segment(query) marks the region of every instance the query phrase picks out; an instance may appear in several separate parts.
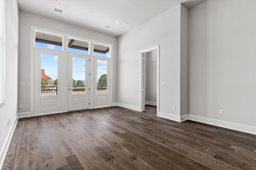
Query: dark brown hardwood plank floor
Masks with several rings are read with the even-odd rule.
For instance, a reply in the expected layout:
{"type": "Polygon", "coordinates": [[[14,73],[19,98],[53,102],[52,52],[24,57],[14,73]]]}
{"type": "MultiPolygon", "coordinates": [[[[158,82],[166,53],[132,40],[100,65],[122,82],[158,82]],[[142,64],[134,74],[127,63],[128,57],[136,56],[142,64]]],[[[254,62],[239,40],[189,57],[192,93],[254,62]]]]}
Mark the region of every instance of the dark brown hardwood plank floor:
{"type": "Polygon", "coordinates": [[[107,107],[18,120],[2,170],[256,170],[256,135],[107,107]]]}

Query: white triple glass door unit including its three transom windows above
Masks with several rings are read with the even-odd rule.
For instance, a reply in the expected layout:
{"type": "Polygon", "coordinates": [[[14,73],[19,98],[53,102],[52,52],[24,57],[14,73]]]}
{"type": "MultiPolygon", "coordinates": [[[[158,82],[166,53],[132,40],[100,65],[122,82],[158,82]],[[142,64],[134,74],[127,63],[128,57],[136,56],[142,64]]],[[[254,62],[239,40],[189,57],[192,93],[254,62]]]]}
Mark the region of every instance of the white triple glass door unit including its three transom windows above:
{"type": "Polygon", "coordinates": [[[32,39],[34,115],[112,105],[112,45],[37,29],[32,39]]]}

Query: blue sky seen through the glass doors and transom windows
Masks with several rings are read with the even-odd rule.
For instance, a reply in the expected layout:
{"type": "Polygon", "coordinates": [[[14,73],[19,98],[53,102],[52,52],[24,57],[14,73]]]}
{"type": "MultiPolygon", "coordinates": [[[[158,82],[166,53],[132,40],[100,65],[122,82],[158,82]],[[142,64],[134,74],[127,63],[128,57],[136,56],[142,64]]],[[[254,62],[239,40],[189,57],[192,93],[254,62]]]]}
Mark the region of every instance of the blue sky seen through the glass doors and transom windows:
{"type": "MultiPolygon", "coordinates": [[[[36,47],[43,47],[47,49],[62,50],[61,46],[50,45],[45,43],[36,42],[36,47]]],[[[79,49],[71,49],[70,52],[88,54],[88,51],[79,49]]],[[[108,57],[108,53],[94,53],[96,56],[108,57]]],[[[85,80],[85,59],[73,57],[73,79],[74,80],[85,80]]],[[[41,69],[44,69],[46,76],[49,76],[53,80],[58,78],[58,56],[53,54],[41,53],[41,69]]],[[[102,74],[107,74],[107,63],[106,61],[97,61],[97,80],[102,74]]],[[[92,74],[91,74],[92,75],[92,74]]]]}

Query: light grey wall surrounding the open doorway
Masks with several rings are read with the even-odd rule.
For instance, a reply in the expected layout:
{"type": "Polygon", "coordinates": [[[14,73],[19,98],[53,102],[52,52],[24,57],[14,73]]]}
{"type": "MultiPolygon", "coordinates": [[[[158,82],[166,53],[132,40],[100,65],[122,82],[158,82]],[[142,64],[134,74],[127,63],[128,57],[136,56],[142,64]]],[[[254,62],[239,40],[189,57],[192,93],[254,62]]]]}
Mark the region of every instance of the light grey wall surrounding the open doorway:
{"type": "Polygon", "coordinates": [[[180,13],[181,4],[118,37],[120,106],[139,110],[139,52],[160,45],[159,112],[180,117],[180,13]]]}

